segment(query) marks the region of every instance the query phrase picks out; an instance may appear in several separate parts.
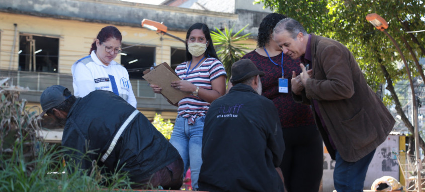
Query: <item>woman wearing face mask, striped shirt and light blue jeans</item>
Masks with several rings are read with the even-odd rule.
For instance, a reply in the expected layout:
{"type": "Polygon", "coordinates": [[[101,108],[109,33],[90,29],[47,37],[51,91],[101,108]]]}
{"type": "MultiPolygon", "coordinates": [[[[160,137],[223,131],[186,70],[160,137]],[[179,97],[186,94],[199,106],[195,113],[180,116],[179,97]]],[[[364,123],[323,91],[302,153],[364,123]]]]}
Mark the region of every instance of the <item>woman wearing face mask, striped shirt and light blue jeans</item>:
{"type": "MultiPolygon", "coordinates": [[[[186,61],[176,67],[180,81],[171,86],[192,93],[178,103],[178,116],[169,142],[182,156],[185,171],[190,166],[193,189],[198,189],[198,176],[201,169],[202,135],[205,114],[226,89],[226,72],[217,59],[210,30],[207,25],[196,23],[186,34],[186,61]]],[[[153,92],[160,93],[161,88],[150,85],[153,92]]],[[[182,178],[183,179],[183,178],[182,178]]]]}

